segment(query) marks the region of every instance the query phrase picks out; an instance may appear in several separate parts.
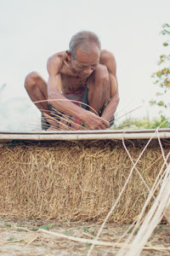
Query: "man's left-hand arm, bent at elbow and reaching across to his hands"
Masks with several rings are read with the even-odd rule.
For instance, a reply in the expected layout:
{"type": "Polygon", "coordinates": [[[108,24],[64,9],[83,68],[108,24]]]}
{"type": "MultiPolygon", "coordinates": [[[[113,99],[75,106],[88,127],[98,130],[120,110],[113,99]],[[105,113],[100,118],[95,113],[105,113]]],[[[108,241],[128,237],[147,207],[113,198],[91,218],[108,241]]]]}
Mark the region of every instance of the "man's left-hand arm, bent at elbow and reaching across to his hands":
{"type": "Polygon", "coordinates": [[[82,119],[90,130],[108,128],[109,124],[105,119],[78,107],[61,94],[61,75],[59,72],[62,65],[62,60],[56,55],[48,60],[48,103],[61,112],[82,119]]]}

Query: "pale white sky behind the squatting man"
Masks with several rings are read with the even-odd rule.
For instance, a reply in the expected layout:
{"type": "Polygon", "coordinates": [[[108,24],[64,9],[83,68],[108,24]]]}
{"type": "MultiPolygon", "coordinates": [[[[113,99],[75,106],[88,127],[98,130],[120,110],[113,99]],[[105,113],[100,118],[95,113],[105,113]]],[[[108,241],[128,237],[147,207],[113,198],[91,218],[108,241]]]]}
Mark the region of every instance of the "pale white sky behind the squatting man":
{"type": "MultiPolygon", "coordinates": [[[[159,33],[170,22],[169,10],[169,0],[0,0],[0,85],[7,84],[5,99],[27,96],[26,74],[35,70],[47,79],[48,56],[68,49],[74,33],[90,30],[116,56],[118,115],[122,108],[126,113],[149,102],[156,95],[150,76],[165,50],[159,33]]],[[[148,112],[153,114],[153,109],[148,112]]],[[[146,115],[145,108],[137,114],[146,115]]]]}

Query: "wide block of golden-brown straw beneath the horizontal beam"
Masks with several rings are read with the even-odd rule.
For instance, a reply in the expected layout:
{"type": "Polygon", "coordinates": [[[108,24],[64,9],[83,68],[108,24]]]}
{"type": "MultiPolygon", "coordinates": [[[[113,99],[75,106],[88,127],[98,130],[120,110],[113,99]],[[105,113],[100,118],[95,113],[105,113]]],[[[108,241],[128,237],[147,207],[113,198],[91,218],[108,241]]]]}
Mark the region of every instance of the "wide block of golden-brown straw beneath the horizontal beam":
{"type": "MultiPolygon", "coordinates": [[[[126,141],[134,162],[146,143],[126,141]]],[[[162,141],[162,145],[167,155],[169,141],[162,141]]],[[[161,149],[154,140],[136,166],[149,188],[162,164],[161,149]]],[[[102,222],[132,167],[121,141],[9,144],[0,148],[0,213],[17,218],[102,222]]],[[[148,193],[134,170],[109,221],[132,222],[148,193]]]]}

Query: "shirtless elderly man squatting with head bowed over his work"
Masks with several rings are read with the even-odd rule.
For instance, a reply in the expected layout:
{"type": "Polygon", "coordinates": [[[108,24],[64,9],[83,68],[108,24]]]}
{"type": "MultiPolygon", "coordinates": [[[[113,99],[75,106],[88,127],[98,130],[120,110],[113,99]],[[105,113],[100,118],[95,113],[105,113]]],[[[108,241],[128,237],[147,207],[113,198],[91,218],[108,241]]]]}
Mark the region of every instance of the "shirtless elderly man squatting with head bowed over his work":
{"type": "Polygon", "coordinates": [[[47,67],[48,83],[35,72],[25,82],[31,101],[43,116],[54,108],[81,119],[89,130],[110,127],[119,102],[116,61],[111,52],[100,48],[94,32],[75,34],[69,50],[49,57],[47,67]],[[91,108],[71,102],[69,95],[79,96],[91,108]]]}

